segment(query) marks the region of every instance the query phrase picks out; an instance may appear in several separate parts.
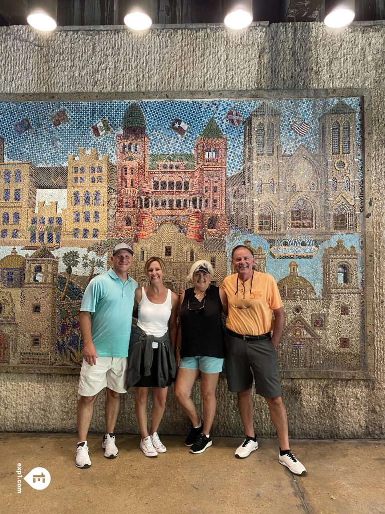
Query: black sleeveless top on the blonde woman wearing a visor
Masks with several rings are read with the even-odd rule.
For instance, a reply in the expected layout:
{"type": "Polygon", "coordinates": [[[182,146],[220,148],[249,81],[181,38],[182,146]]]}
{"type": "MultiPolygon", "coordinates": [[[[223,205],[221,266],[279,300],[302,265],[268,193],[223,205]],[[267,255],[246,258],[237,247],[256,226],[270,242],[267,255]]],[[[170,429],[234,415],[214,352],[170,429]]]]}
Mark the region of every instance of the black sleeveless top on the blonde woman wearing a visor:
{"type": "Polygon", "coordinates": [[[224,358],[222,302],[219,287],[210,285],[199,302],[194,287],[186,289],[180,310],[181,357],[224,358]]]}

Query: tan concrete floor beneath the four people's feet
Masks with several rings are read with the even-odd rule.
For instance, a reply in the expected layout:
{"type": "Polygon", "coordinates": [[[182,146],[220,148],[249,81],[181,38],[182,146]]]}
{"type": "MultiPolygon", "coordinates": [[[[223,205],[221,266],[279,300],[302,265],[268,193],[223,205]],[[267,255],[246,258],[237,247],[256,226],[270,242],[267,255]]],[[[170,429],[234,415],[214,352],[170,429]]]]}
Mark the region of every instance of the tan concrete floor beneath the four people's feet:
{"type": "Polygon", "coordinates": [[[235,438],[214,438],[200,455],[183,438],[163,436],[167,452],[148,458],[139,436],[118,435],[119,456],[104,458],[101,436],[90,435],[92,466],[75,467],[72,434],[0,434],[0,511],[3,514],[385,514],[384,440],[296,440],[292,450],[307,476],[278,463],[275,439],[238,460],[235,438]],[[34,467],[51,474],[42,491],[22,480],[34,467]]]}

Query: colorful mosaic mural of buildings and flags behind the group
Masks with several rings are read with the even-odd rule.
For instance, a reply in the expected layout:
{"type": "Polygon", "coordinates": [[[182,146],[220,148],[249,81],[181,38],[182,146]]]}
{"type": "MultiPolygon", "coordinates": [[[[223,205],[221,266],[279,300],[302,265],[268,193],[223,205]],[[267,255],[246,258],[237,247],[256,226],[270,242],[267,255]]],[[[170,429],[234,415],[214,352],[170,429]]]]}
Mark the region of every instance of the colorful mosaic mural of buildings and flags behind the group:
{"type": "Polygon", "coordinates": [[[281,369],[365,369],[360,98],[7,102],[0,135],[3,371],[81,364],[83,291],[121,240],[176,291],[248,245],[283,299],[281,369]]]}

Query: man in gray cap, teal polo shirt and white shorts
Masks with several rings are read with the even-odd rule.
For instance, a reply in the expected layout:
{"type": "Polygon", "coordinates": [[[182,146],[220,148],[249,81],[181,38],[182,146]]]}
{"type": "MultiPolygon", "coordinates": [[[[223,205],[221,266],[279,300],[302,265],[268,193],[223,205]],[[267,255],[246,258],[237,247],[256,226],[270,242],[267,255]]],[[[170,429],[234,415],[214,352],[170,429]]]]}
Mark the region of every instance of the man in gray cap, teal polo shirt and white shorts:
{"type": "Polygon", "coordinates": [[[89,468],[87,433],[98,393],[106,389],[106,433],[104,456],[118,455],[114,429],[120,409],[120,394],[126,393],[127,356],[131,336],[134,292],[138,282],[128,270],[132,248],[119,243],[112,252],[111,268],[93,278],[84,291],[79,323],[84,340],[78,400],[78,448],[76,466],[89,468]]]}

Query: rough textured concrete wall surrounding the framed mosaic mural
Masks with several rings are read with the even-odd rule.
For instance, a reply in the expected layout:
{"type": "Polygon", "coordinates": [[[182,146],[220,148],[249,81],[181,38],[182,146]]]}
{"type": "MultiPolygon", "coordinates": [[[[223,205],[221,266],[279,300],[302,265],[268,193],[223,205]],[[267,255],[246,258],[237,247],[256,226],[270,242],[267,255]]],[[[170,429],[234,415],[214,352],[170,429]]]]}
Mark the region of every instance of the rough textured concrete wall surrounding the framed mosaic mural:
{"type": "MultiPolygon", "coordinates": [[[[295,437],[385,436],[384,263],[385,251],[385,26],[352,26],[336,32],[321,24],[152,30],[59,30],[36,34],[28,27],[0,29],[0,100],[98,98],[269,98],[270,90],[365,89],[371,108],[365,172],[372,182],[374,232],[372,380],[284,379],[290,432],[295,437]],[[251,93],[259,90],[260,93],[251,93]],[[178,93],[179,91],[179,93],[178,93]],[[200,93],[201,91],[201,93],[200,93]],[[221,93],[218,93],[221,91],[221,93]],[[246,93],[246,91],[249,91],[246,93]],[[66,94],[66,95],[64,95],[66,94]],[[17,96],[16,96],[17,95],[17,96]],[[371,120],[370,120],[371,118],[371,120]]],[[[336,93],[337,94],[337,93],[336,93]]],[[[330,95],[329,95],[330,96],[330,95]]],[[[275,91],[274,97],[277,98],[275,91]]],[[[367,198],[369,201],[369,199],[367,198]]],[[[368,258],[371,257],[368,255],[368,258]]],[[[371,259],[370,259],[371,260],[371,259]]],[[[368,284],[369,289],[370,282],[368,284]]],[[[75,430],[76,376],[1,374],[2,430],[75,430]]],[[[213,432],[242,433],[235,395],[218,388],[213,432]]],[[[263,401],[256,399],[259,435],[274,435],[263,401]]],[[[162,433],[183,433],[185,417],[169,395],[162,433]]],[[[103,431],[99,399],[92,430],[103,431]]],[[[133,393],[123,398],[118,431],[136,432],[133,393]]]]}

